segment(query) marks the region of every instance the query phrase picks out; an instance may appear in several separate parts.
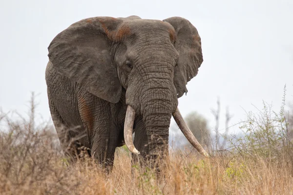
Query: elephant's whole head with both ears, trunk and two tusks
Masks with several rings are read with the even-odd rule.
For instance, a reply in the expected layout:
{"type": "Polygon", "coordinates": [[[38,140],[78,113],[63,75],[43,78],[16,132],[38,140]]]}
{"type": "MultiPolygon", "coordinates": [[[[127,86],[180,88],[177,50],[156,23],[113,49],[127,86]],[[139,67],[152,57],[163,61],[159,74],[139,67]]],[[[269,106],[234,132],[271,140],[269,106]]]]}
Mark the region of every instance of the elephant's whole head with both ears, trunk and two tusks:
{"type": "Polygon", "coordinates": [[[189,142],[208,156],[177,108],[203,62],[200,36],[188,20],[89,18],[58,34],[48,50],[55,69],[93,95],[117,103],[125,91],[124,137],[132,153],[139,154],[132,141],[135,115],[143,117],[150,156],[166,152],[173,115],[189,142]]]}

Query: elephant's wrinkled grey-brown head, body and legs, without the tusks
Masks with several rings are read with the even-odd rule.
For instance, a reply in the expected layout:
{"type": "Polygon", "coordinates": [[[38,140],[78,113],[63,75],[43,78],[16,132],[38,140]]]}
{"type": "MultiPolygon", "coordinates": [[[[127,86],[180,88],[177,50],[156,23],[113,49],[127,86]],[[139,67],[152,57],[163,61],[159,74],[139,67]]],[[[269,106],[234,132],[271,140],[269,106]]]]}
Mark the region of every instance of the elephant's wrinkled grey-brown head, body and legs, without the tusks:
{"type": "Polygon", "coordinates": [[[136,149],[151,158],[167,152],[177,98],[203,61],[200,37],[188,20],[85,19],[58,34],[48,51],[49,107],[64,151],[78,136],[71,146],[87,147],[112,165],[115,148],[124,144],[130,105],[136,149]]]}

